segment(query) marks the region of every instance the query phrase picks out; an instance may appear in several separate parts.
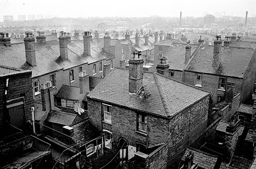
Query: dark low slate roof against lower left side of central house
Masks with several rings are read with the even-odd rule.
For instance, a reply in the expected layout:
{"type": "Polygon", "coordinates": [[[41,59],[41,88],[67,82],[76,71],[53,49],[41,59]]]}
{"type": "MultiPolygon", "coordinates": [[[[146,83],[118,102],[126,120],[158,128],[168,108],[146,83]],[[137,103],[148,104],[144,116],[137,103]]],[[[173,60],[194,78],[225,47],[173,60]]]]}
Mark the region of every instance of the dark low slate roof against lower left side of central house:
{"type": "Polygon", "coordinates": [[[93,125],[89,118],[71,127],[74,129],[74,133],[71,137],[82,142],[89,141],[100,136],[100,131],[93,125]]]}

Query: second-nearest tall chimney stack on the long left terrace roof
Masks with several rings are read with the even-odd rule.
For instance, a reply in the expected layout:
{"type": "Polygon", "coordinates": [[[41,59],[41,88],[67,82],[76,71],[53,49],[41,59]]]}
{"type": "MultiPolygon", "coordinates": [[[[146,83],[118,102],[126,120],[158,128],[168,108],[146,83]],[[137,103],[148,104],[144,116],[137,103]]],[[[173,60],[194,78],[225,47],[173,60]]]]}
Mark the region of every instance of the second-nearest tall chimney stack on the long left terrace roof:
{"type": "Polygon", "coordinates": [[[59,33],[59,53],[61,59],[68,59],[68,41],[67,32],[61,31],[59,33]]]}

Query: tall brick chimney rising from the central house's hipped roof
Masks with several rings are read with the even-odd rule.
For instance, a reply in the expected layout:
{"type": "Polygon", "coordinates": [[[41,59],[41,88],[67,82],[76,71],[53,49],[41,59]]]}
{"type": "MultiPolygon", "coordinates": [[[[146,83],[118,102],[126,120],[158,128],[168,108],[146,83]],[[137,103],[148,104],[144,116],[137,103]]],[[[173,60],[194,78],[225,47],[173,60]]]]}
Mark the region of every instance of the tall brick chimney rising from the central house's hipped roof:
{"type": "Polygon", "coordinates": [[[137,93],[143,86],[143,59],[135,50],[129,60],[129,93],[137,93]]]}

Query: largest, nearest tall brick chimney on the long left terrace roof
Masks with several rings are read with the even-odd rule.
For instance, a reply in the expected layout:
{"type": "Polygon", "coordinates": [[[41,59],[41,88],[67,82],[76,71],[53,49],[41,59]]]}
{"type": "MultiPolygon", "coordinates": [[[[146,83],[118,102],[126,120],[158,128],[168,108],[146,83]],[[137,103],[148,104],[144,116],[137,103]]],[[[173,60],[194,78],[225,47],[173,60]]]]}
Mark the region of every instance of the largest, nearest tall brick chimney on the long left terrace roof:
{"type": "Polygon", "coordinates": [[[31,66],[36,66],[35,39],[32,32],[25,32],[24,38],[26,62],[31,66]]]}

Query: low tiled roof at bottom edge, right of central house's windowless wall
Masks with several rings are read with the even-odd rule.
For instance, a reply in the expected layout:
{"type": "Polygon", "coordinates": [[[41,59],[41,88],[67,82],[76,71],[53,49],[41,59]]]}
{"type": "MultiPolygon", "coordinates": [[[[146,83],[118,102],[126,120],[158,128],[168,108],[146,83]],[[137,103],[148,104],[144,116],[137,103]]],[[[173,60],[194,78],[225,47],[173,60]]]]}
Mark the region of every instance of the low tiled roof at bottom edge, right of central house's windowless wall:
{"type": "Polygon", "coordinates": [[[187,148],[185,154],[182,157],[182,160],[185,160],[186,154],[189,152],[194,153],[194,163],[198,164],[199,167],[202,167],[204,169],[213,169],[216,165],[216,162],[218,160],[218,156],[205,153],[200,150],[196,150],[193,148],[187,148]]]}

